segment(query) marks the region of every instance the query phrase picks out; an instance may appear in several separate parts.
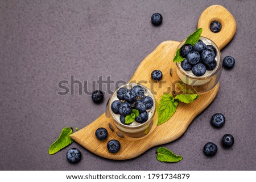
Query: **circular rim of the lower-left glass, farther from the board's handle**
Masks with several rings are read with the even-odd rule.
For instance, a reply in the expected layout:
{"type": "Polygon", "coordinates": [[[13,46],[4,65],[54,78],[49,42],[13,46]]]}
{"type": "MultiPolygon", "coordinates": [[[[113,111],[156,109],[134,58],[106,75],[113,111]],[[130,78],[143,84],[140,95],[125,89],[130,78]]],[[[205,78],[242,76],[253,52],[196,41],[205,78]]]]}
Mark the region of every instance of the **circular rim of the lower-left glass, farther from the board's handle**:
{"type": "Polygon", "coordinates": [[[122,86],[118,87],[117,90],[114,91],[113,95],[111,96],[111,99],[109,100],[110,102],[109,102],[109,106],[108,106],[108,107],[109,107],[110,115],[112,116],[114,122],[115,122],[116,124],[118,124],[119,126],[122,126],[122,127],[125,128],[125,129],[140,129],[140,128],[143,128],[144,126],[146,126],[146,125],[152,120],[152,118],[155,116],[155,112],[156,112],[156,99],[155,99],[155,96],[154,96],[154,95],[152,94],[152,92],[150,91],[150,89],[147,88],[146,86],[143,86],[142,84],[139,84],[139,83],[126,83],[126,84],[123,84],[122,86]],[[127,86],[133,85],[133,84],[139,85],[139,86],[141,86],[142,88],[146,89],[147,92],[150,93],[150,95],[151,95],[150,97],[151,97],[151,98],[153,99],[153,101],[154,101],[154,104],[153,104],[153,106],[152,106],[152,108],[154,108],[154,111],[152,112],[151,117],[148,117],[148,120],[147,120],[146,122],[144,122],[143,124],[137,125],[137,126],[129,126],[129,125],[122,124],[121,121],[120,121],[120,122],[117,121],[117,120],[115,119],[114,115],[113,115],[113,111],[111,110],[111,104],[112,104],[113,95],[115,95],[115,94],[117,93],[117,91],[119,90],[119,88],[127,87],[127,86]]]}

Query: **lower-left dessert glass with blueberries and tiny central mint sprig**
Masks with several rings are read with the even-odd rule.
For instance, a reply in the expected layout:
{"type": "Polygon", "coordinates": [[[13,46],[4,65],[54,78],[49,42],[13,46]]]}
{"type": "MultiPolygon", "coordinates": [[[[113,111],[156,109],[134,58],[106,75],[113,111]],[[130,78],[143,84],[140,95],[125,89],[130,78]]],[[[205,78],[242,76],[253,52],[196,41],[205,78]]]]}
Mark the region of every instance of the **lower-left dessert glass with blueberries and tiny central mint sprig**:
{"type": "Polygon", "coordinates": [[[157,105],[147,87],[138,83],[125,84],[114,92],[106,106],[109,127],[121,138],[146,137],[157,125],[157,105]]]}

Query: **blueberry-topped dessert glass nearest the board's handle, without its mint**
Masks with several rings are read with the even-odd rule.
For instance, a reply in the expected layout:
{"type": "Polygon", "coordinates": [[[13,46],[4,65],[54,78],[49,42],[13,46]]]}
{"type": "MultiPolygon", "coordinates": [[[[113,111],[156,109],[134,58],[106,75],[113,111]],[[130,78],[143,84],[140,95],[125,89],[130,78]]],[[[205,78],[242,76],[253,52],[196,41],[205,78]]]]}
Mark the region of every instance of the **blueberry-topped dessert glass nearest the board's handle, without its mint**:
{"type": "Polygon", "coordinates": [[[176,63],[177,76],[188,89],[208,92],[216,86],[222,71],[221,53],[218,46],[206,37],[200,37],[195,45],[181,42],[180,56],[185,58],[176,63]]]}

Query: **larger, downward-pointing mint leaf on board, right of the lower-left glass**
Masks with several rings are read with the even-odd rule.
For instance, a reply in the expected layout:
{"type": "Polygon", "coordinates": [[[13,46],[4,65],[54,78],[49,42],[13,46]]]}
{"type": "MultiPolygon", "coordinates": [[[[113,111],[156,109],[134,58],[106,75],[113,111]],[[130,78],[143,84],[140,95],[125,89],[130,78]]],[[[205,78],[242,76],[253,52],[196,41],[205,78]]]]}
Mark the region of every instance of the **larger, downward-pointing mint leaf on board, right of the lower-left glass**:
{"type": "Polygon", "coordinates": [[[158,125],[162,125],[174,115],[178,101],[172,98],[171,94],[164,94],[159,103],[158,125]]]}

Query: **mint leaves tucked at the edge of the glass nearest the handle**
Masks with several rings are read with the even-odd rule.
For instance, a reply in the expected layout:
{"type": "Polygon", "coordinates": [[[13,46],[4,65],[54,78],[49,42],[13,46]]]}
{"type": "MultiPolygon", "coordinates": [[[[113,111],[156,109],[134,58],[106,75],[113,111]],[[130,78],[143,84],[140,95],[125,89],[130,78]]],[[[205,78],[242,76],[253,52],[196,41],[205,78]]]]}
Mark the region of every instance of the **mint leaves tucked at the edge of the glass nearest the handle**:
{"type": "MultiPolygon", "coordinates": [[[[202,31],[203,31],[203,28],[196,29],[195,32],[193,32],[191,35],[187,37],[187,40],[185,41],[184,44],[195,45],[199,41],[202,31]]],[[[179,48],[176,51],[174,62],[181,62],[183,60],[185,60],[185,58],[180,56],[180,48],[179,48]]]]}

